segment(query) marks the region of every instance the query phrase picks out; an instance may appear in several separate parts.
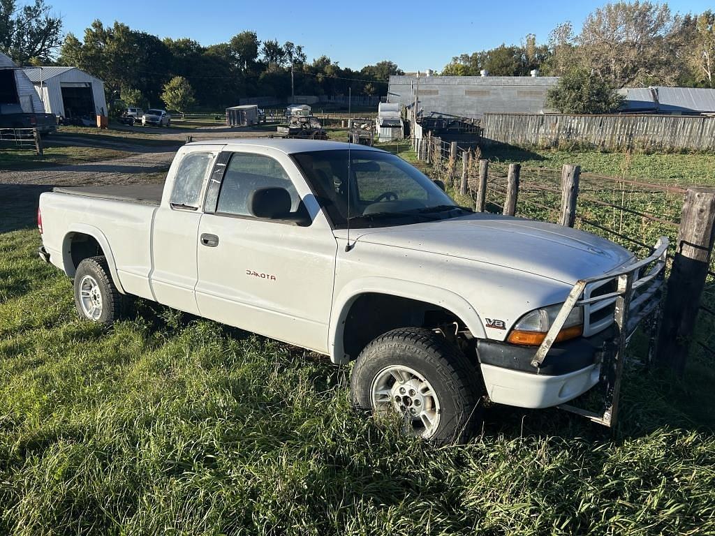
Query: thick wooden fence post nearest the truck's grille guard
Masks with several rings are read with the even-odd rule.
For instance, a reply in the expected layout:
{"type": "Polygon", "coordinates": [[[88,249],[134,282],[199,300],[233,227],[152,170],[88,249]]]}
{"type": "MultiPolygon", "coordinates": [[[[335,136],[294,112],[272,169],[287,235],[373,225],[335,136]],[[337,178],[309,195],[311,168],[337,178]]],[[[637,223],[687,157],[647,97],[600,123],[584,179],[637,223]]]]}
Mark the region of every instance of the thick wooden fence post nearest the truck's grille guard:
{"type": "Polygon", "coordinates": [[[668,279],[656,362],[685,370],[715,237],[715,189],[689,188],[668,279]]]}

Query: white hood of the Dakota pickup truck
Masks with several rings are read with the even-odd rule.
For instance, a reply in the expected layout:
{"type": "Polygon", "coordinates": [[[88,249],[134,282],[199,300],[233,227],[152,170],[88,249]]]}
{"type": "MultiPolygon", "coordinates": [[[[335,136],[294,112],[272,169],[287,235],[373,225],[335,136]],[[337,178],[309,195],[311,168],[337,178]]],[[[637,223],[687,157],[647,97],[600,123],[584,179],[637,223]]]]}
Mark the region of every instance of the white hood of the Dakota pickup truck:
{"type": "Polygon", "coordinates": [[[633,259],[627,249],[594,234],[495,214],[358,232],[362,233],[356,240],[358,247],[370,243],[470,259],[566,284],[603,274],[633,259]]]}

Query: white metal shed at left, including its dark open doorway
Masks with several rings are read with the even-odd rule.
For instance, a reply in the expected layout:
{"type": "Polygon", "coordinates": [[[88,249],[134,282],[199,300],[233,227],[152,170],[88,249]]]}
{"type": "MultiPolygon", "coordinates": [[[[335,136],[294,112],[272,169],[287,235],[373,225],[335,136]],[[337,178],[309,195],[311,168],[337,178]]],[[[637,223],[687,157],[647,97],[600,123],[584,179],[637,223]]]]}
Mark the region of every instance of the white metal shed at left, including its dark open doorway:
{"type": "Polygon", "coordinates": [[[46,111],[62,117],[83,117],[109,113],[104,82],[77,67],[25,67],[46,111]]]}

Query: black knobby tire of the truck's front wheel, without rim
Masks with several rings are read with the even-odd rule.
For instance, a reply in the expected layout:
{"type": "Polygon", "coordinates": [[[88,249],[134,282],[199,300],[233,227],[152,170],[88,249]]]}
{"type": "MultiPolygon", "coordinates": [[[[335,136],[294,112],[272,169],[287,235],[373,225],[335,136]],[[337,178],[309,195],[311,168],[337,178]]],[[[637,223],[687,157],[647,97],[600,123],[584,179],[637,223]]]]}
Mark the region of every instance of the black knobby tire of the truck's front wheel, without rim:
{"type": "Polygon", "coordinates": [[[350,394],[360,410],[372,413],[373,382],[392,366],[414,369],[431,384],[440,402],[437,429],[427,437],[439,445],[462,443],[481,420],[483,382],[458,347],[430,329],[393,329],[370,342],[352,369],[350,394]]]}

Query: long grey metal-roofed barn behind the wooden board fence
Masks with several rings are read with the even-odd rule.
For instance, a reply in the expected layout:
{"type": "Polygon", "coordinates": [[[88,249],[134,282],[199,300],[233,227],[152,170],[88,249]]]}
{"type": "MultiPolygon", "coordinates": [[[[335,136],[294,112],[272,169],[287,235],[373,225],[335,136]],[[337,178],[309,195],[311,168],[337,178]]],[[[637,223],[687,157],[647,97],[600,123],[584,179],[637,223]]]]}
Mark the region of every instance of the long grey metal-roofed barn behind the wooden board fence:
{"type": "Polygon", "coordinates": [[[473,119],[485,113],[541,114],[558,76],[390,76],[388,102],[413,106],[423,116],[473,119]]]}

